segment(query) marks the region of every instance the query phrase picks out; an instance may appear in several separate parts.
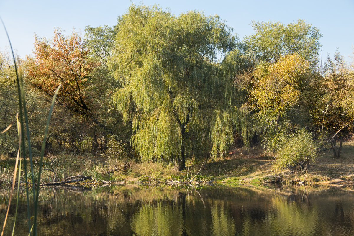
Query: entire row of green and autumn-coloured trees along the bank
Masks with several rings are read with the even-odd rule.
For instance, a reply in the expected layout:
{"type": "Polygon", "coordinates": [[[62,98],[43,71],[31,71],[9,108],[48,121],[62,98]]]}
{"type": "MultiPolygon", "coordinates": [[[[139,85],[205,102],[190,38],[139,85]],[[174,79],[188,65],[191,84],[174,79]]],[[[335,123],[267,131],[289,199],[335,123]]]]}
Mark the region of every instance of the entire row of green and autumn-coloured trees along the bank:
{"type": "MultiPolygon", "coordinates": [[[[352,132],[354,64],[337,52],[322,67],[322,34],[302,19],[252,28],[241,40],[219,16],[131,5],[113,27],[87,26],[84,38],[60,29],[52,39],[35,36],[33,55],[17,62],[32,145],[61,84],[47,152],[119,153],[183,169],[237,143],[263,145],[278,152],[278,167],[303,171],[326,143],[339,156],[352,132]]],[[[0,73],[5,129],[17,113],[7,52],[0,73]]],[[[1,154],[15,154],[16,136],[1,134],[1,154]]]]}

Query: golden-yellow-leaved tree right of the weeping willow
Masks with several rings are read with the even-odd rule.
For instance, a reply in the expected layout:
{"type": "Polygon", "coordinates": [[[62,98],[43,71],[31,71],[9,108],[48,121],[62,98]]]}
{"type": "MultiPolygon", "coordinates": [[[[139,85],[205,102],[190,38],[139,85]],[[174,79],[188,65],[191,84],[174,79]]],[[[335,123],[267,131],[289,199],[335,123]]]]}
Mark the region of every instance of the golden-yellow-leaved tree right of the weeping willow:
{"type": "Polygon", "coordinates": [[[254,73],[255,82],[251,91],[250,100],[255,116],[258,120],[258,129],[267,137],[267,146],[274,148],[272,140],[276,134],[287,126],[281,123],[299,101],[301,92],[307,86],[307,71],[309,63],[299,55],[293,54],[280,57],[278,62],[267,65],[259,64],[254,73]]]}

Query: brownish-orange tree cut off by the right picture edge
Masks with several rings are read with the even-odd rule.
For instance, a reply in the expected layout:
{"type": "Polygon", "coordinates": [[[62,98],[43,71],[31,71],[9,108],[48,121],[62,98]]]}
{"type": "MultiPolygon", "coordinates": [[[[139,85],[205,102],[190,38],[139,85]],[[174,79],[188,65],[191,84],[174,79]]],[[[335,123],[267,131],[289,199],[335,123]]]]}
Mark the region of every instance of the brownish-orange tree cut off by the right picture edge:
{"type": "Polygon", "coordinates": [[[311,120],[315,131],[323,144],[331,144],[335,157],[341,155],[343,138],[348,137],[353,128],[353,69],[339,52],[333,59],[328,57],[323,77],[318,81],[319,93],[312,106],[311,120]],[[336,143],[338,139],[339,145],[336,143]]]}

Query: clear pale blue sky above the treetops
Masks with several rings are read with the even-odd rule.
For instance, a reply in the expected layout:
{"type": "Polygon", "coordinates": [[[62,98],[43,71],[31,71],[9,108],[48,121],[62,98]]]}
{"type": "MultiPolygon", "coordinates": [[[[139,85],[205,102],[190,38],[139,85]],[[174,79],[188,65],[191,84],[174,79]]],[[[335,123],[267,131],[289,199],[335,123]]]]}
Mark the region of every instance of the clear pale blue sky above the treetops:
{"type": "MultiPolygon", "coordinates": [[[[254,21],[279,21],[284,24],[304,19],[323,34],[323,59],[337,50],[350,60],[354,46],[354,0],[0,0],[2,17],[13,48],[20,57],[32,54],[34,34],[51,38],[54,27],[67,33],[81,31],[86,25],[114,25],[118,16],[132,4],[169,7],[179,15],[189,10],[204,11],[206,15],[219,15],[243,39],[253,33],[254,21]]],[[[0,50],[8,46],[5,31],[0,29],[0,50]]]]}

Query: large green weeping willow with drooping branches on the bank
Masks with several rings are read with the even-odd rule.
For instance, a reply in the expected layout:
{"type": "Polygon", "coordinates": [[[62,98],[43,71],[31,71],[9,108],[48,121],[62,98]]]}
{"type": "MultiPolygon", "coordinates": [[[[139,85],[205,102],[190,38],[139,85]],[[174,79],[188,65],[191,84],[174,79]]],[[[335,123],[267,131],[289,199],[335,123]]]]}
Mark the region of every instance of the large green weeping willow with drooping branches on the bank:
{"type": "Polygon", "coordinates": [[[108,65],[122,87],[113,102],[132,122],[139,156],[182,169],[197,151],[222,154],[238,114],[233,77],[242,63],[232,29],[202,12],[176,17],[134,5],[117,29],[108,65]]]}

